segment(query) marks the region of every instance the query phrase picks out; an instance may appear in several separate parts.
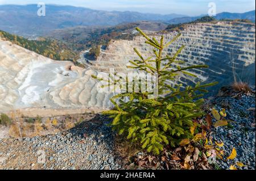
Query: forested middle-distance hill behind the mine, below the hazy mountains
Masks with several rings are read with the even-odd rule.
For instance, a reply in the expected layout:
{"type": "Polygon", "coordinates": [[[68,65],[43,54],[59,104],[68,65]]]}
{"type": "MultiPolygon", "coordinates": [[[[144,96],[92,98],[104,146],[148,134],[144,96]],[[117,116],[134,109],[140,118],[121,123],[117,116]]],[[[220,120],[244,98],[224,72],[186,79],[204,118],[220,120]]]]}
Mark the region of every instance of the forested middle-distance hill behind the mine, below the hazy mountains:
{"type": "Polygon", "coordinates": [[[135,35],[135,27],[143,30],[159,31],[167,27],[163,23],[137,22],[120,24],[113,27],[74,27],[56,30],[49,34],[49,37],[64,41],[74,50],[83,50],[97,45],[108,45],[110,40],[125,39],[130,40],[135,35]]]}

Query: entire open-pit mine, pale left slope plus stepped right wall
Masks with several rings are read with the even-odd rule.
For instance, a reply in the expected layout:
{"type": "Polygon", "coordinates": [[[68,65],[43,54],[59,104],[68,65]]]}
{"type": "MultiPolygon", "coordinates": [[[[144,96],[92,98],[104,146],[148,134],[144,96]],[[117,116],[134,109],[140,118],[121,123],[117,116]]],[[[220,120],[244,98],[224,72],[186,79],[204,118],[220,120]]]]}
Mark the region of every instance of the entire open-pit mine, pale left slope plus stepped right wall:
{"type": "MultiPolygon", "coordinates": [[[[179,60],[186,62],[183,66],[207,64],[209,69],[194,70],[199,78],[183,75],[178,82],[220,82],[210,91],[212,95],[221,86],[232,83],[234,74],[255,85],[255,24],[188,24],[181,33],[182,37],[164,53],[172,54],[186,45],[179,56],[179,60]]],[[[166,41],[176,34],[167,33],[166,41]]],[[[82,69],[72,62],[53,61],[0,38],[0,110],[55,115],[109,108],[113,94],[97,92],[97,82],[91,75],[99,71],[108,73],[110,68],[127,73],[128,61],[137,58],[134,47],[144,57],[151,55],[152,49],[141,36],[115,40],[101,50],[96,61],[82,69]]]]}

